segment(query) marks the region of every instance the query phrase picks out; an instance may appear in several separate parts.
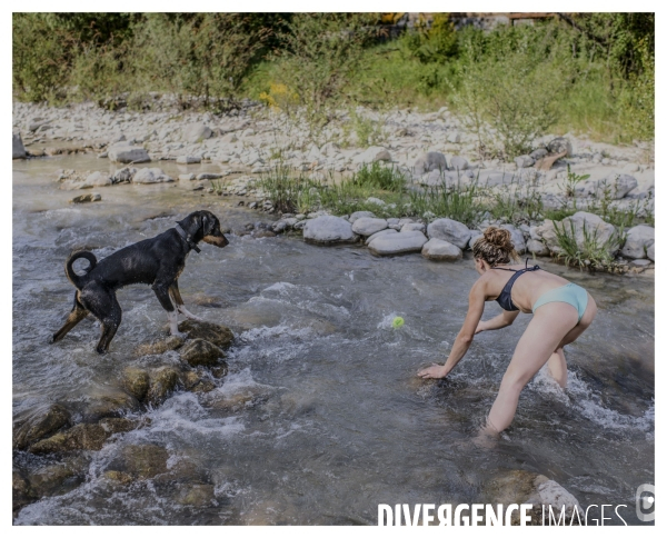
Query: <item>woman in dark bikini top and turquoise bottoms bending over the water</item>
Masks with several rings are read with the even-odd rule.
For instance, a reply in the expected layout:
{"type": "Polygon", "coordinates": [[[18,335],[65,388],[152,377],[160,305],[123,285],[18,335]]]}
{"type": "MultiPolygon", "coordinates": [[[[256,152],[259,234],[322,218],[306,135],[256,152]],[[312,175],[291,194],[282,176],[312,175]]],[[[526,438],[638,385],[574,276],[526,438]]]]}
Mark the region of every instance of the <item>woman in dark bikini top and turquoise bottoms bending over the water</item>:
{"type": "Polygon", "coordinates": [[[597,307],[584,288],[539,266],[528,267],[528,260],[526,267],[510,265],[518,255],[509,231],[502,228],[487,228],[472,246],[472,256],[480,278],[470,290],[468,313],[449,358],[445,366],[434,365],[420,370],[418,376],[424,379],[446,377],[468,351],[474,335],[510,326],[519,312],[532,312],[487,417],[486,432],[498,434],[510,425],[521,389],[545,363],[565,388],[567,363],[563,348],[588,328],[597,307]],[[504,311],[480,321],[484,303],[490,300],[498,301],[504,311]]]}

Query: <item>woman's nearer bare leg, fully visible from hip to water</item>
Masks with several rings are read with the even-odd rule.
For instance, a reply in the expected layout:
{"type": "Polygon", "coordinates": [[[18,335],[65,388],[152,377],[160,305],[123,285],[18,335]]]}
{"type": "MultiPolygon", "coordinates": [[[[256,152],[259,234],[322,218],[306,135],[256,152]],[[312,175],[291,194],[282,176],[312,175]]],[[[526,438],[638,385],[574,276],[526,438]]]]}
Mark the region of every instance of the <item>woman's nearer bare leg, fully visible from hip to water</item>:
{"type": "Polygon", "coordinates": [[[510,425],[521,389],[549,360],[554,349],[577,325],[577,318],[576,308],[567,302],[549,302],[536,310],[502,376],[487,419],[488,429],[499,432],[510,425]]]}

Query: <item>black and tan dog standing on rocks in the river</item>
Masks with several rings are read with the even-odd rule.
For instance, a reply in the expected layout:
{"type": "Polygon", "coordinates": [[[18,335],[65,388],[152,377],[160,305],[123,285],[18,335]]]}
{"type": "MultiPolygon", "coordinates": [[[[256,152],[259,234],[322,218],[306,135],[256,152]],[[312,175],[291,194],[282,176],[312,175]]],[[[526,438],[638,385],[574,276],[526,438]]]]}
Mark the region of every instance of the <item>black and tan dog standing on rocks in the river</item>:
{"type": "Polygon", "coordinates": [[[190,250],[200,251],[197,247],[199,241],[220,248],[229,245],[220,231],[220,221],[210,211],[190,213],[177,222],[176,228],[120,249],[99,263],[92,252],[83,250],[72,253],[64,265],[64,273],[77,288],[74,308],[62,328],[53,335],[51,342],[62,340],[64,335],[92,312],[102,323],[97,351],[106,352],[121,319],[116,290],[132,283],[148,283],[152,287],[160,305],[167,310],[170,332],[178,335],[178,312],[199,320],[186,309],[178,290],[178,277],[186,267],[188,253],[190,250]],[[72,263],[79,258],[90,262],[82,276],[77,275],[72,268],[72,263]]]}

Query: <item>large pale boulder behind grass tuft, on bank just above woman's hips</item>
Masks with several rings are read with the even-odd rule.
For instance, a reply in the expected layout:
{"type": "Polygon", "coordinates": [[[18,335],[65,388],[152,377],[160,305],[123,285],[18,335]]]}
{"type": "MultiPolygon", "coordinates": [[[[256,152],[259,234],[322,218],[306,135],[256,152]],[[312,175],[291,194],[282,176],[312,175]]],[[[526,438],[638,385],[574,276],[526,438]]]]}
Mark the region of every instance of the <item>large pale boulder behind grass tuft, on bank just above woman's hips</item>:
{"type": "Polygon", "coordinates": [[[577,247],[580,250],[587,248],[587,240],[590,242],[595,241],[597,247],[606,248],[609,256],[613,256],[618,250],[618,236],[613,225],[605,222],[597,215],[578,211],[571,217],[563,219],[560,222],[547,219],[542,226],[536,228],[535,232],[538,239],[541,239],[551,252],[561,252],[556,226],[560,232],[574,236],[577,247]]]}

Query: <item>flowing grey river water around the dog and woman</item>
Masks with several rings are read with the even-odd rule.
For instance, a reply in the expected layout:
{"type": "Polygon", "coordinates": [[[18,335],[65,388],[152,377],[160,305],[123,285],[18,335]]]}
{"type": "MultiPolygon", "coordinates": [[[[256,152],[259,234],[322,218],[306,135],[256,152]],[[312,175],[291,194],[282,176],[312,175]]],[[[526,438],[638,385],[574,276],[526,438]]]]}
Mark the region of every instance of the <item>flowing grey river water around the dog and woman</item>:
{"type": "MultiPolygon", "coordinates": [[[[231,228],[269,218],[178,183],[116,186],[98,189],[102,202],[67,203],[80,192],[58,190],[56,170],[104,166],[86,156],[14,163],[14,416],[86,401],[116,382],[137,345],[166,333],[150,288],[132,287],[118,293],[123,319],[108,355],[94,352],[99,327],[88,318],[48,345],[71,308],[63,262],[73,248],[103,258],[196,209],[231,228]]],[[[229,239],[222,250],[203,245],[190,255],[179,280],[191,311],[238,336],[228,377],[211,392],[178,391],[145,411],[149,426],[90,452],[82,481],[24,507],[16,524],[376,525],[378,504],[477,501],[502,469],[544,474],[583,506],[627,505],[620,514],[637,522],[635,490],[654,484],[653,278],[591,277],[540,260],[586,287],[598,317],[566,349],[569,388],[539,372],[512,426],[485,449],[470,439],[530,317],[478,335],[448,379],[415,376],[445,360],[460,328],[477,278],[469,256],[434,263],[298,237],[229,239]],[[405,318],[399,329],[396,316],[405,318]],[[235,409],[217,405],[247,393],[235,409]],[[212,485],[211,501],[179,502],[178,480],[104,479],[125,446],[147,442],[212,485]]],[[[498,311],[487,303],[485,319],[498,311]]],[[[51,459],[14,452],[14,461],[30,469],[51,459]]]]}

